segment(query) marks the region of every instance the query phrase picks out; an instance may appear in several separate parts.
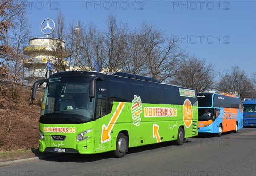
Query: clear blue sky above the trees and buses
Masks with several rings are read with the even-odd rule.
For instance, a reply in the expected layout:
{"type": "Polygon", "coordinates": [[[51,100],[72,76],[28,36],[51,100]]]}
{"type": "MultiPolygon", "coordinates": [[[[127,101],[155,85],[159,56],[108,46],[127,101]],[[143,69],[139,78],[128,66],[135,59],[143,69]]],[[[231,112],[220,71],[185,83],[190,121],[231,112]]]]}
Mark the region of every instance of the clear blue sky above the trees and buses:
{"type": "MultiPolygon", "coordinates": [[[[42,20],[61,10],[72,20],[105,28],[108,14],[132,28],[148,21],[177,38],[186,52],[214,63],[216,74],[238,65],[256,71],[255,0],[28,0],[32,36],[43,35],[42,20]]],[[[44,35],[43,35],[44,36],[44,35]]]]}

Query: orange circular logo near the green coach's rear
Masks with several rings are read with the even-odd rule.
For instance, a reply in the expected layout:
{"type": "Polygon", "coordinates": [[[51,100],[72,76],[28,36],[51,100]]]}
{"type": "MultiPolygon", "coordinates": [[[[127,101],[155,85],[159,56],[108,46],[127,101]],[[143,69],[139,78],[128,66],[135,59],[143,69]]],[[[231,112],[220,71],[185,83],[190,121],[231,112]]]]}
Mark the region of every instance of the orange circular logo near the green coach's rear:
{"type": "Polygon", "coordinates": [[[184,101],[184,106],[183,106],[183,121],[186,128],[189,128],[190,125],[192,124],[192,118],[193,118],[192,104],[189,101],[189,99],[186,99],[184,101]]]}

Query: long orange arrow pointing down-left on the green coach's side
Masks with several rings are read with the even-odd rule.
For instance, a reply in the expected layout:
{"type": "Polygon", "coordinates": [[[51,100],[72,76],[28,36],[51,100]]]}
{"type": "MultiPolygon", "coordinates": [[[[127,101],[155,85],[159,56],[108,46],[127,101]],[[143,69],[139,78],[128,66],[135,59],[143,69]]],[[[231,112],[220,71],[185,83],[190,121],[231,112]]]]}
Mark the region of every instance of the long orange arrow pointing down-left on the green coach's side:
{"type": "Polygon", "coordinates": [[[115,113],[113,114],[112,118],[110,119],[108,126],[105,124],[102,125],[102,136],[101,136],[101,142],[107,142],[110,141],[111,136],[110,132],[113,129],[117,118],[119,117],[120,113],[122,112],[123,107],[125,106],[125,102],[120,102],[116,108],[115,113]]]}

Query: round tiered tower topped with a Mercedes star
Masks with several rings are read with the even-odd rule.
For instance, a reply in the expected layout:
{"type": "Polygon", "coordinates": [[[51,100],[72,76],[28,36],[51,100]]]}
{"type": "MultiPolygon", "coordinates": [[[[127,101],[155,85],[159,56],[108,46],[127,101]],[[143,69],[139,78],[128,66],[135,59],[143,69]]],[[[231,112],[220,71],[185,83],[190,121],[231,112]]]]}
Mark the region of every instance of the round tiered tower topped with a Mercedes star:
{"type": "MultiPolygon", "coordinates": [[[[57,38],[49,37],[55,29],[55,23],[52,19],[45,19],[41,23],[41,31],[47,35],[46,37],[37,37],[29,39],[29,46],[26,46],[23,49],[23,53],[28,55],[29,58],[24,60],[25,72],[24,79],[27,80],[27,84],[33,84],[38,79],[45,78],[45,73],[47,71],[47,62],[53,64],[53,72],[55,71],[54,67],[58,64],[56,59],[56,43],[60,43],[60,46],[63,48],[64,57],[68,56],[65,48],[65,41],[59,40],[57,38]],[[43,27],[44,26],[44,27],[43,27]]],[[[68,69],[68,63],[65,63],[66,69],[68,69]]]]}

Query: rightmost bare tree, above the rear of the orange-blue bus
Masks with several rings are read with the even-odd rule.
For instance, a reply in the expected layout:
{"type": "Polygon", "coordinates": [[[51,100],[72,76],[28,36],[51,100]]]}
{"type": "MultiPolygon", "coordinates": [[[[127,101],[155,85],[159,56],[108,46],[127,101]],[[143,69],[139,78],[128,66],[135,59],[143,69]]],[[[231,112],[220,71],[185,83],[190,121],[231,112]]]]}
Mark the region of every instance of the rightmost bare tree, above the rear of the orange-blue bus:
{"type": "Polygon", "coordinates": [[[221,76],[217,90],[236,95],[241,99],[255,96],[256,94],[248,75],[236,65],[232,67],[230,73],[221,76]]]}

